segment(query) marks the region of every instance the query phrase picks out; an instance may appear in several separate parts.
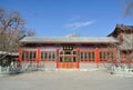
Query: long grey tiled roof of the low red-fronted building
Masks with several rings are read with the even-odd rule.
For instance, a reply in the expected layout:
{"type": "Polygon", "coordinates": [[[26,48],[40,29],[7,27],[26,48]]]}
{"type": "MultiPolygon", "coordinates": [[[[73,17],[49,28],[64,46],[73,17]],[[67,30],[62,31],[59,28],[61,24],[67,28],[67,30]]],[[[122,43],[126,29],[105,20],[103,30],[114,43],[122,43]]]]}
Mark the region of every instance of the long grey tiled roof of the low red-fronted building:
{"type": "Polygon", "coordinates": [[[74,43],[99,43],[99,42],[119,42],[117,39],[113,37],[105,38],[89,38],[89,37],[24,37],[20,42],[27,43],[63,43],[63,42],[74,42],[74,43]]]}

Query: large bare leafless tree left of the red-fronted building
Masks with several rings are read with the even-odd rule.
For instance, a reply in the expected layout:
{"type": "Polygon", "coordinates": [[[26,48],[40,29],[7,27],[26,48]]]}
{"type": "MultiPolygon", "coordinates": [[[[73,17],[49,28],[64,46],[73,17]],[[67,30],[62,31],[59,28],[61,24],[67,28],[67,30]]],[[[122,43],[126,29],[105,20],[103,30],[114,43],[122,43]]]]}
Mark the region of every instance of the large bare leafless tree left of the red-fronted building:
{"type": "Polygon", "coordinates": [[[33,36],[34,32],[24,28],[25,20],[17,11],[0,9],[0,60],[8,53],[18,52],[19,39],[33,36]]]}

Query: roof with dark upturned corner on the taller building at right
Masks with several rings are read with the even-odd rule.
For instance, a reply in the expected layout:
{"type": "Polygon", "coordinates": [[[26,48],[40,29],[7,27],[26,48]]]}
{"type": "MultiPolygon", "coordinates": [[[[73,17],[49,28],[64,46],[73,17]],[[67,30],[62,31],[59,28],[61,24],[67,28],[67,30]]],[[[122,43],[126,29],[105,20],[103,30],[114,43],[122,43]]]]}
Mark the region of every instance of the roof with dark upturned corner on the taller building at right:
{"type": "Polygon", "coordinates": [[[133,26],[116,24],[109,37],[117,37],[121,40],[122,43],[119,46],[121,50],[133,50],[133,26]],[[120,32],[123,34],[120,36],[120,32]]]}

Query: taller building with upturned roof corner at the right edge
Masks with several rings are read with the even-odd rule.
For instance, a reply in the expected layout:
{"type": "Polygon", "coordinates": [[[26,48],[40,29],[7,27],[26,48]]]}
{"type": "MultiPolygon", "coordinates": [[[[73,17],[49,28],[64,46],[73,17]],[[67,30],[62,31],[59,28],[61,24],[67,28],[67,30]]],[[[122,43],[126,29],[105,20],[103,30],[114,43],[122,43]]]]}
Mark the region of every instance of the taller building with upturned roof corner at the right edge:
{"type": "Polygon", "coordinates": [[[117,24],[109,37],[119,39],[119,51],[121,62],[133,62],[133,26],[117,24]]]}

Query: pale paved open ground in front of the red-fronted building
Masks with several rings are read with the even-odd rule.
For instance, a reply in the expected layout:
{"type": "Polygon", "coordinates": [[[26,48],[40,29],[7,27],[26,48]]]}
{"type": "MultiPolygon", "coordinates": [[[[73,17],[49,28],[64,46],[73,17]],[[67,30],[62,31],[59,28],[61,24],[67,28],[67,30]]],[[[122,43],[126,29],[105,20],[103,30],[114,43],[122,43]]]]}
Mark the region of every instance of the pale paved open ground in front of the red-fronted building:
{"type": "Polygon", "coordinates": [[[0,77],[0,90],[133,90],[133,78],[104,71],[34,71],[0,77]]]}

